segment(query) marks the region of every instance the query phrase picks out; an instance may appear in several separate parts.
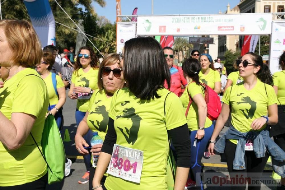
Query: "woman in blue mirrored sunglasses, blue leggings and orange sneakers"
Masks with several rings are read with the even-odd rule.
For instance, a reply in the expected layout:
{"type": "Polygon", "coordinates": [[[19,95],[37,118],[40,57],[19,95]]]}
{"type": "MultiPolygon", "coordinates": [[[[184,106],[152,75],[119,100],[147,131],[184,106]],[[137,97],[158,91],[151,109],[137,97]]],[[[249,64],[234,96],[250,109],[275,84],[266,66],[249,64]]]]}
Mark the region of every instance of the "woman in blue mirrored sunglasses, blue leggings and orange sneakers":
{"type": "MultiPolygon", "coordinates": [[[[70,90],[68,92],[68,96],[71,99],[77,100],[75,112],[77,126],[79,126],[79,123],[86,114],[93,91],[98,90],[98,66],[99,61],[92,48],[87,46],[79,49],[71,77],[70,90]]],[[[91,138],[92,131],[89,130],[84,136],[84,139],[86,142],[90,142],[91,138]]],[[[86,173],[82,176],[82,179],[78,181],[80,184],[85,184],[89,181],[90,161],[91,156],[89,154],[85,155],[84,163],[86,173]]]]}

